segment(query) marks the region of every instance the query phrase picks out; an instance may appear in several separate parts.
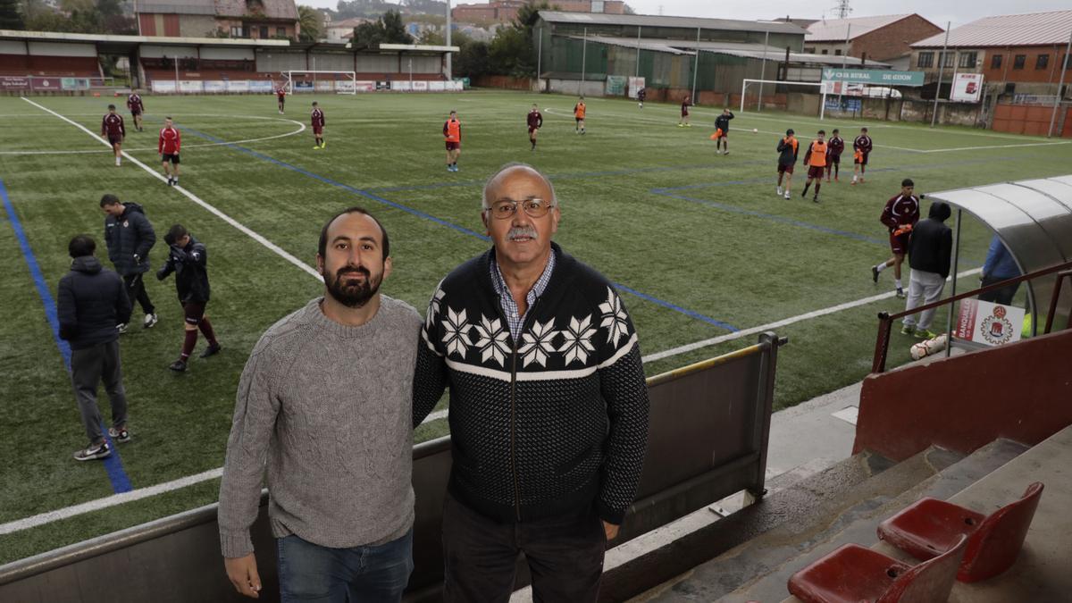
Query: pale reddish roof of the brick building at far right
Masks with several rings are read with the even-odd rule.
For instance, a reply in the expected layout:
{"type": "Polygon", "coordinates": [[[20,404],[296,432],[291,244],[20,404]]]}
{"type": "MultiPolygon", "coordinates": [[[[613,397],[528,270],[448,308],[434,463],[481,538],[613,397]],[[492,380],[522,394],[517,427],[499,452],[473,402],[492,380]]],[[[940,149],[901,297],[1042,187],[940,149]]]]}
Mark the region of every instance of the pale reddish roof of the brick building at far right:
{"type": "MultiPolygon", "coordinates": [[[[1036,46],[1067,44],[1072,11],[983,17],[949,31],[950,47],[1036,46]]],[[[912,48],[941,48],[946,34],[920,40],[912,48]]]]}

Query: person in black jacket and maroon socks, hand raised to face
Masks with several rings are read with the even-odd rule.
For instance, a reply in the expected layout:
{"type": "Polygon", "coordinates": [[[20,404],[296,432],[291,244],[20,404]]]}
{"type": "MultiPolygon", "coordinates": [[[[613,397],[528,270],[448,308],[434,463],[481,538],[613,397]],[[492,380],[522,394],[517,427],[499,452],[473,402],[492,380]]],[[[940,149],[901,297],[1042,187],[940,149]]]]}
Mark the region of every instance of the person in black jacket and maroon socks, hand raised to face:
{"type": "Polygon", "coordinates": [[[190,236],[182,224],[172,226],[164,235],[164,241],[170,248],[170,252],[167,254],[164,267],[157,271],[157,278],[164,280],[167,275],[175,273],[175,289],[179,293],[179,303],[182,304],[182,314],[185,317],[182,325],[185,328],[182,352],[179,359],[172,363],[168,368],[182,372],[187,370],[187,362],[194,351],[194,345],[197,344],[198,328],[205,334],[205,339],[208,339],[208,348],[202,352],[202,357],[207,358],[220,351],[212,323],[205,315],[205,306],[209,297],[208,250],[190,236]]]}

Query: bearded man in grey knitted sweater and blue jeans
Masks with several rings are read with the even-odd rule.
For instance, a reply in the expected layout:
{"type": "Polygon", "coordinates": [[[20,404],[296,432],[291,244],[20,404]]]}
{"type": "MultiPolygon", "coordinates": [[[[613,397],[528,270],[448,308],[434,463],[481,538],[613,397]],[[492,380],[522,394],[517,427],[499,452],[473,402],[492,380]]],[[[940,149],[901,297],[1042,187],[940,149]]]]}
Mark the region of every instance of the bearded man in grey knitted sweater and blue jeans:
{"type": "Polygon", "coordinates": [[[267,469],[282,600],[397,602],[413,571],[420,315],[378,292],[387,231],[352,207],[321,232],[325,295],[272,325],[242,371],[220,484],[227,577],[257,598],[250,527],[267,469]]]}

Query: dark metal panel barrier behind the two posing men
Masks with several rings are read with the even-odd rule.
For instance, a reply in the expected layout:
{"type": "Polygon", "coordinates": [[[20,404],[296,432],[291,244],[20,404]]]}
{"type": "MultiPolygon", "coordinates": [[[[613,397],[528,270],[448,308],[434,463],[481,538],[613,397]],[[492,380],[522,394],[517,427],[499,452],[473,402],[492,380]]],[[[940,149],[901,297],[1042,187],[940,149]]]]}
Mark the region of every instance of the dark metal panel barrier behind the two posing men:
{"type": "MultiPolygon", "coordinates": [[[[766,448],[774,400],[777,350],[787,342],[763,333],[742,350],[647,380],[651,412],[644,469],[614,544],[746,490],[764,492],[766,448]]],[[[441,600],[443,503],[450,474],[450,438],[413,450],[414,573],[405,600],[441,600]]],[[[274,539],[268,492],[251,535],[265,590],[278,601],[274,539]]],[[[0,567],[0,601],[45,603],[116,598],[191,603],[249,601],[227,582],[220,557],[217,504],[187,511],[119,532],[0,567]],[[93,579],[87,579],[87,576],[93,579]]],[[[520,588],[526,568],[518,573],[520,588]]],[[[639,592],[650,576],[615,577],[639,592]]]]}

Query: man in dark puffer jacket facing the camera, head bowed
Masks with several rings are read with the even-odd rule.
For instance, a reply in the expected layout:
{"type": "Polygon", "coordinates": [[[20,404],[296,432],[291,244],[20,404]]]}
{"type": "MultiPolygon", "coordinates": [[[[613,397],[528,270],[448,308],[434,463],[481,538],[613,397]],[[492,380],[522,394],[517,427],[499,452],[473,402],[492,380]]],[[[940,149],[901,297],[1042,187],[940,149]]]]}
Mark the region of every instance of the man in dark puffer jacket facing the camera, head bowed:
{"type": "MultiPolygon", "coordinates": [[[[149,271],[149,250],[157,244],[157,233],[145,217],[145,210],[136,203],[120,203],[119,197],[106,194],[101,197],[101,209],[107,214],[104,219],[104,242],[108,246],[108,259],[116,271],[123,277],[131,305],[137,299],[145,311],[145,322],[149,328],[157,324],[157,309],[145,291],[142,275],[149,271]]],[[[119,333],[126,332],[126,323],[119,326],[119,333]]]]}

